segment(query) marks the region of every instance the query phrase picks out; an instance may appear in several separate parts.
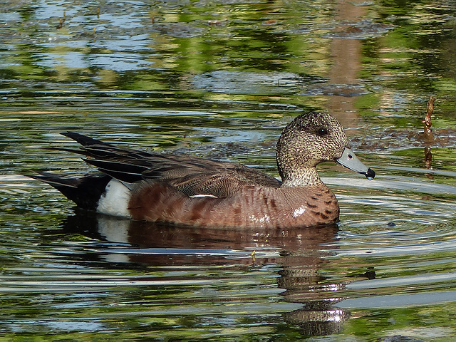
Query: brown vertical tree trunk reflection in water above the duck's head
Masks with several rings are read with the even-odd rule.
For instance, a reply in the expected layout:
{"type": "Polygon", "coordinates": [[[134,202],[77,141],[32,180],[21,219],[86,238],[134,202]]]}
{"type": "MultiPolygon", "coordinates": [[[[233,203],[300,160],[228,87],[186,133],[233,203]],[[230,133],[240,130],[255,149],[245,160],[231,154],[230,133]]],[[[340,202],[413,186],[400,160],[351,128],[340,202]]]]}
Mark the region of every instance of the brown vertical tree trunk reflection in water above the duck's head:
{"type": "MultiPolygon", "coordinates": [[[[366,15],[366,7],[355,6],[361,2],[339,0],[336,5],[338,15],[336,21],[348,22],[359,21],[366,15]]],[[[338,25],[338,30],[345,30],[348,25],[338,25]]],[[[331,58],[333,65],[328,74],[331,84],[353,85],[358,83],[358,74],[361,71],[361,44],[360,39],[335,38],[331,41],[331,58]]],[[[357,124],[355,101],[357,96],[331,95],[328,110],[333,113],[345,127],[353,127],[357,124]]]]}

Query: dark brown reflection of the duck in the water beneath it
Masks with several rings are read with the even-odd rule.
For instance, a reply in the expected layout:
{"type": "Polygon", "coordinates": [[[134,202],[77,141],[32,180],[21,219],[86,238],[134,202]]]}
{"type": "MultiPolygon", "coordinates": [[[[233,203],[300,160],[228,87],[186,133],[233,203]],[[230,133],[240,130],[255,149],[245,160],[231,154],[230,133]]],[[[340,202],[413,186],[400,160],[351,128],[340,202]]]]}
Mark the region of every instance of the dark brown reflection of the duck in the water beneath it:
{"type": "MultiPolygon", "coordinates": [[[[118,219],[81,212],[68,217],[63,226],[66,232],[79,232],[110,242],[129,244],[155,252],[138,254],[107,253],[105,261],[113,264],[145,264],[146,266],[222,266],[233,263],[252,264],[252,249],[278,249],[280,257],[255,257],[255,264],[279,264],[278,286],[285,301],[303,304],[303,308],[284,314],[284,319],[296,324],[306,336],[322,336],[340,331],[349,316],[348,311],[335,309],[335,291],[343,285],[328,284],[318,271],[329,261],[321,244],[334,242],[336,224],[301,229],[209,229],[179,227],[118,219]],[[162,252],[160,250],[162,249],[162,252]],[[167,252],[172,250],[173,252],[167,252]],[[201,252],[192,252],[198,251],[201,252]],[[176,253],[177,251],[181,251],[176,253]],[[219,251],[211,253],[211,251],[219,251]],[[223,251],[239,251],[235,259],[223,251]]],[[[330,248],[330,247],[327,247],[330,248]]],[[[93,258],[93,254],[88,254],[93,258]]],[[[204,272],[204,271],[202,271],[204,272]]],[[[181,276],[180,280],[192,281],[181,276]]],[[[211,299],[208,299],[209,301],[211,299]]]]}

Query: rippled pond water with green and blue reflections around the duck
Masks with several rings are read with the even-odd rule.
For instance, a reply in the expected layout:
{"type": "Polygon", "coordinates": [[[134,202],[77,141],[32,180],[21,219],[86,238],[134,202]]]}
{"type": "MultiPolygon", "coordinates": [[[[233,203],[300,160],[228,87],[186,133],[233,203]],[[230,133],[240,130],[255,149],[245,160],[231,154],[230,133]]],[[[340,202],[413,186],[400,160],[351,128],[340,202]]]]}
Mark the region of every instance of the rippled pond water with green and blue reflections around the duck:
{"type": "Polygon", "coordinates": [[[5,341],[456,341],[452,1],[1,6],[5,341]],[[276,175],[276,139],[307,110],[336,115],[377,173],[321,165],[337,226],[98,217],[25,176],[90,170],[42,149],[74,147],[66,130],[276,175]]]}

